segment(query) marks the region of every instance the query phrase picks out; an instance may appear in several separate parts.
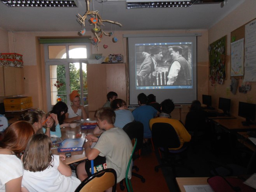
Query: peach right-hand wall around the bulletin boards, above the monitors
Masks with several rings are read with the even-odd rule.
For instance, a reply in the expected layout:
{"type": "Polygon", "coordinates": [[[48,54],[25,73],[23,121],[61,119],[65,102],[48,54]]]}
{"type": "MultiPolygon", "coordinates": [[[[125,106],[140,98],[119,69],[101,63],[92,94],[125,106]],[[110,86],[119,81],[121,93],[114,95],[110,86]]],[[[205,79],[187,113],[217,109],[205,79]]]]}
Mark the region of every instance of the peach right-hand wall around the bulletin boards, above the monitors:
{"type": "MultiPolygon", "coordinates": [[[[239,28],[243,24],[256,18],[256,1],[246,0],[237,9],[233,10],[219,23],[212,26],[208,31],[208,44],[215,42],[219,38],[227,35],[227,63],[226,63],[226,80],[222,85],[210,84],[208,80],[209,95],[212,95],[212,105],[217,108],[219,97],[231,99],[231,115],[238,115],[238,101],[256,103],[256,82],[250,82],[252,89],[246,94],[239,93],[237,90],[236,94],[230,92],[230,33],[231,31],[239,28]]],[[[247,83],[247,82],[245,82],[247,83]]],[[[242,85],[242,80],[240,80],[242,85]]]]}

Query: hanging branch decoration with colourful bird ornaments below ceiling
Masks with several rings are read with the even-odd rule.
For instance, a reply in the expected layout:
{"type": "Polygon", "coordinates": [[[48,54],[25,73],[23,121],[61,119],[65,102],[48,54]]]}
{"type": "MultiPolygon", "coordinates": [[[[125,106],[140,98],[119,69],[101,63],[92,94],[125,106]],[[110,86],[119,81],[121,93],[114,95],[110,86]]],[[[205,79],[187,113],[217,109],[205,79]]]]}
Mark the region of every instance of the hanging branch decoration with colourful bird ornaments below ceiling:
{"type": "MultiPolygon", "coordinates": [[[[92,39],[92,43],[95,44],[95,46],[97,46],[97,48],[98,48],[98,44],[100,43],[101,39],[103,38],[103,35],[111,36],[110,33],[107,34],[102,30],[102,26],[104,26],[103,23],[107,22],[107,23],[111,23],[111,24],[117,24],[120,27],[122,26],[122,24],[118,23],[117,21],[110,21],[110,20],[105,20],[105,19],[103,20],[102,17],[100,16],[98,10],[96,10],[96,11],[90,10],[89,3],[91,2],[91,0],[85,0],[85,2],[86,2],[86,12],[83,16],[78,14],[78,16],[79,16],[78,19],[79,19],[80,23],[84,26],[84,31],[85,31],[85,21],[88,16],[91,17],[90,25],[94,25],[94,28],[93,28],[94,38],[91,38],[91,39],[92,39]],[[97,33],[100,33],[100,35],[98,35],[97,33]]],[[[82,35],[84,35],[84,33],[82,35]]]]}

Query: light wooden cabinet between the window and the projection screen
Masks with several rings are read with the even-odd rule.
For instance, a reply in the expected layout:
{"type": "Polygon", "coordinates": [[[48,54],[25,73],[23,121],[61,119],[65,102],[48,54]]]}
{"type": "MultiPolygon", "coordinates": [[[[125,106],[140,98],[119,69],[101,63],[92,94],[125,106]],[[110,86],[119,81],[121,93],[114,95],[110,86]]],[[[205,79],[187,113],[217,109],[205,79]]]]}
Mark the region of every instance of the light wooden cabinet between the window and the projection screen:
{"type": "Polygon", "coordinates": [[[126,101],[125,63],[88,64],[87,86],[89,118],[93,118],[96,110],[107,101],[109,91],[116,92],[118,98],[126,101]]]}

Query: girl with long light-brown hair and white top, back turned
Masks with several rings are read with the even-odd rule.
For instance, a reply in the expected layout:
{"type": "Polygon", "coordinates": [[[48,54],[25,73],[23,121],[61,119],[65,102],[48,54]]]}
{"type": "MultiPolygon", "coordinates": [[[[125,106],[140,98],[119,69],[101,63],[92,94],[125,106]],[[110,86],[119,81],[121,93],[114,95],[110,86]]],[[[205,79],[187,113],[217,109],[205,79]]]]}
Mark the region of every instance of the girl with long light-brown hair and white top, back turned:
{"type": "MultiPolygon", "coordinates": [[[[22,186],[30,192],[75,191],[81,183],[72,176],[71,168],[51,154],[52,142],[42,133],[34,134],[23,155],[22,186]]],[[[26,191],[26,190],[24,190],[26,191]]]]}

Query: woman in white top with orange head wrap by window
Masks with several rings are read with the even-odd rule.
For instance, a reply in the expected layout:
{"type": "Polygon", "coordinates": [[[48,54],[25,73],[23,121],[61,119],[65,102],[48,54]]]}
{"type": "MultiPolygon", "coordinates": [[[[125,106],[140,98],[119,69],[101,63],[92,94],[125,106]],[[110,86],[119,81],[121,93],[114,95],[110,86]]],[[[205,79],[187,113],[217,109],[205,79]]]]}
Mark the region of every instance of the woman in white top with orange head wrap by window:
{"type": "Polygon", "coordinates": [[[72,102],[72,105],[68,106],[68,112],[65,114],[65,122],[71,122],[74,120],[87,119],[87,114],[85,112],[84,106],[80,105],[81,99],[79,97],[77,90],[70,93],[69,98],[72,102]]]}

